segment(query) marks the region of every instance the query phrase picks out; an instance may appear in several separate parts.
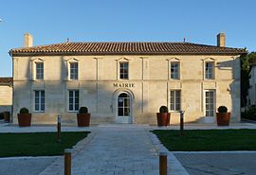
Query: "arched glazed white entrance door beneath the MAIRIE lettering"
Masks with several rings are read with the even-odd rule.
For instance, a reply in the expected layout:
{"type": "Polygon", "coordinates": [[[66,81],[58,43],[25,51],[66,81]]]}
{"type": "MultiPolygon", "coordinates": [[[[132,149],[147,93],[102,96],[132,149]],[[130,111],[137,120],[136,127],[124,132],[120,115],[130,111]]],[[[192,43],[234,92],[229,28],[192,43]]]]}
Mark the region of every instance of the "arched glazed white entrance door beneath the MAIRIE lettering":
{"type": "Polygon", "coordinates": [[[118,97],[117,123],[131,123],[131,99],[126,93],[121,93],[118,97]]]}

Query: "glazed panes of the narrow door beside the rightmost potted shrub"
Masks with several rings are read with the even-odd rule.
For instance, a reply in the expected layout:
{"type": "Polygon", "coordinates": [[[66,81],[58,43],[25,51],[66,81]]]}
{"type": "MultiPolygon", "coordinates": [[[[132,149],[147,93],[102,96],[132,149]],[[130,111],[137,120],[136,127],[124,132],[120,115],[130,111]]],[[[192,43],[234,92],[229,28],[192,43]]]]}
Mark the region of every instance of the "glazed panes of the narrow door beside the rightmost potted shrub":
{"type": "Polygon", "coordinates": [[[207,90],[205,93],[205,114],[206,116],[214,116],[214,90],[207,90]]]}

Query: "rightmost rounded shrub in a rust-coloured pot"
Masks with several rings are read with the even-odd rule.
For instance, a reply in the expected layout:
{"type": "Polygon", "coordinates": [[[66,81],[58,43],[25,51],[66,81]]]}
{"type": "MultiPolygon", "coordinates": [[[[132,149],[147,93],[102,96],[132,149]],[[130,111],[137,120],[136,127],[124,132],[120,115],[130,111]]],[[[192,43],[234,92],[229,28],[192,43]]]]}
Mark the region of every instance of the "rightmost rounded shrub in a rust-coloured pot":
{"type": "Polygon", "coordinates": [[[218,108],[216,117],[218,126],[229,126],[230,113],[228,113],[228,108],[226,106],[220,106],[218,108]]]}

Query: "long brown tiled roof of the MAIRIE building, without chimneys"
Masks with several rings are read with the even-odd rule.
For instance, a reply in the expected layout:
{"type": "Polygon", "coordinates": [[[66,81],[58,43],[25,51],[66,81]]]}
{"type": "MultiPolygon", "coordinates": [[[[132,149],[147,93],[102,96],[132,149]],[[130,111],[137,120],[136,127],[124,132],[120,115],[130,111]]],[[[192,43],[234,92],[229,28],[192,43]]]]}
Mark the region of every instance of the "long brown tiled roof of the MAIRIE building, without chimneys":
{"type": "Polygon", "coordinates": [[[14,48],[15,55],[168,55],[168,54],[242,54],[242,48],[218,47],[192,43],[62,43],[14,48]]]}

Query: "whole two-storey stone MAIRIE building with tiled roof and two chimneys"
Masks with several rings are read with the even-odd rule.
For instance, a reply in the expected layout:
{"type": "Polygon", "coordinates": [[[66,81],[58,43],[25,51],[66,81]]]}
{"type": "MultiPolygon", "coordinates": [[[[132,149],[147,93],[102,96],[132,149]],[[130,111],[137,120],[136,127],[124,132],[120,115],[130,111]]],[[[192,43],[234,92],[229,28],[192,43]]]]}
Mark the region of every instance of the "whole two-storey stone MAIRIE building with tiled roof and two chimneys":
{"type": "Polygon", "coordinates": [[[240,60],[245,49],[192,43],[71,43],[9,51],[13,60],[13,122],[27,107],[32,123],[76,122],[81,106],[91,123],[155,124],[168,106],[171,123],[185,111],[186,122],[215,122],[225,105],[240,121],[240,60]]]}

